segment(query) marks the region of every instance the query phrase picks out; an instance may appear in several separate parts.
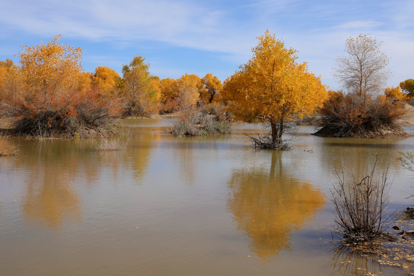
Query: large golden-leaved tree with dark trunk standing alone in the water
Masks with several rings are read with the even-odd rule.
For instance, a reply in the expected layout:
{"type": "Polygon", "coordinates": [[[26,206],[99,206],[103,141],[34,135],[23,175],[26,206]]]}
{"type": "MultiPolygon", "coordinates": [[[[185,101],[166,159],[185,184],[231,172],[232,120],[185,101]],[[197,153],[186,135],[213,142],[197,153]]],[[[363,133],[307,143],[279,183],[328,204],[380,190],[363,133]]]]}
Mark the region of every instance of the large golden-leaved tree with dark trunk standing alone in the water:
{"type": "Polygon", "coordinates": [[[306,63],[296,63],[296,50],[268,30],[258,40],[253,58],[226,80],[224,93],[235,119],[268,124],[272,142],[281,143],[286,122],[312,114],[329,95],[306,63]]]}

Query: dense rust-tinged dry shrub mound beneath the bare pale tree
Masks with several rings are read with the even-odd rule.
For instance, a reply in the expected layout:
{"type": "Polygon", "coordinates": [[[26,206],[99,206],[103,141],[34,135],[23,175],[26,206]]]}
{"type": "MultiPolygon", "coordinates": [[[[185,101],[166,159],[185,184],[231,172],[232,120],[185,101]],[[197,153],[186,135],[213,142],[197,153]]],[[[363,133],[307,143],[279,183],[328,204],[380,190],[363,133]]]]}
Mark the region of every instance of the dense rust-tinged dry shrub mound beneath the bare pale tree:
{"type": "Polygon", "coordinates": [[[408,134],[396,124],[405,113],[402,101],[378,97],[371,99],[356,94],[334,92],[321,109],[314,133],[328,137],[407,138],[408,134]]]}

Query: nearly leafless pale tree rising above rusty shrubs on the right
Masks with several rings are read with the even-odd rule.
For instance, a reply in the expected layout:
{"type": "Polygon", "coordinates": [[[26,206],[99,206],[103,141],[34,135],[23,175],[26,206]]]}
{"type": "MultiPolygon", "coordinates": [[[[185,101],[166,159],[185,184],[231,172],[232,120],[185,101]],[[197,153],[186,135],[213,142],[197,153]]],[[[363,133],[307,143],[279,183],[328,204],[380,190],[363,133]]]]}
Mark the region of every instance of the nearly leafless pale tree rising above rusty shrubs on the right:
{"type": "Polygon", "coordinates": [[[334,77],[348,92],[365,98],[378,93],[392,75],[388,57],[380,51],[381,42],[360,34],[356,39],[349,38],[345,43],[347,56],[337,56],[334,77]]]}

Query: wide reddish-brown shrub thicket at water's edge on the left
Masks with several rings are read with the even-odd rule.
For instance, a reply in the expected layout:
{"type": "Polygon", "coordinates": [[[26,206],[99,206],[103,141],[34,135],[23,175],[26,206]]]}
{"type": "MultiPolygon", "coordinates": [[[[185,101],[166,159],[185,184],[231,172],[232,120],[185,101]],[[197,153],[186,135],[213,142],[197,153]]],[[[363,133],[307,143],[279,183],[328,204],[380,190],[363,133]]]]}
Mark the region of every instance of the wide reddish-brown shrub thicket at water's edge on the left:
{"type": "Polygon", "coordinates": [[[42,137],[101,132],[120,111],[118,99],[101,97],[98,90],[22,93],[17,99],[6,100],[6,106],[16,118],[11,125],[14,134],[42,137]]]}

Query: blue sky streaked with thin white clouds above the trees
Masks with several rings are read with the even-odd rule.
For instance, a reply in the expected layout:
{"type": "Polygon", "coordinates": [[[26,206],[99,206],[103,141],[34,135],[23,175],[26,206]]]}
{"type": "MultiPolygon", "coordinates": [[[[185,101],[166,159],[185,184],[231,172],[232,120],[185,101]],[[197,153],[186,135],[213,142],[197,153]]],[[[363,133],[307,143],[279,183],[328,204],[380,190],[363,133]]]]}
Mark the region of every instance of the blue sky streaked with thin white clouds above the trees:
{"type": "Polygon", "coordinates": [[[48,41],[83,48],[86,71],[108,66],[120,72],[136,54],[153,75],[213,73],[221,80],[251,57],[266,29],[299,51],[298,61],[336,89],[335,56],[350,36],[383,41],[394,76],[414,78],[414,1],[140,1],[0,0],[0,59],[20,45],[48,41]]]}

